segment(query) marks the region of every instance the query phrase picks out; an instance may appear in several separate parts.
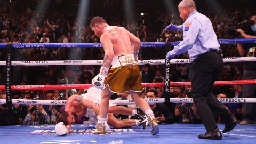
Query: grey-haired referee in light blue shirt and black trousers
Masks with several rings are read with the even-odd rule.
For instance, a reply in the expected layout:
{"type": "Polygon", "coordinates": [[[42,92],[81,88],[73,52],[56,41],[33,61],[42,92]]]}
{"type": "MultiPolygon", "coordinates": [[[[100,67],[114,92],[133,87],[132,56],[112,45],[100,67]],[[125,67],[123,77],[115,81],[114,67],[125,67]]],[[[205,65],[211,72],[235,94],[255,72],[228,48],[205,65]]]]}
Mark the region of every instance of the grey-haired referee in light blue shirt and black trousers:
{"type": "Polygon", "coordinates": [[[165,30],[182,31],[183,40],[167,53],[167,59],[171,60],[175,55],[188,51],[189,57],[193,61],[191,96],[207,131],[205,134],[198,135],[198,138],[220,140],[222,135],[212,112],[226,119],[223,133],[233,130],[237,125],[237,121],[231,116],[230,111],[210,93],[222,68],[220,45],[211,21],[196,11],[193,0],[181,1],[178,9],[184,23],[180,26],[170,24],[165,30]]]}

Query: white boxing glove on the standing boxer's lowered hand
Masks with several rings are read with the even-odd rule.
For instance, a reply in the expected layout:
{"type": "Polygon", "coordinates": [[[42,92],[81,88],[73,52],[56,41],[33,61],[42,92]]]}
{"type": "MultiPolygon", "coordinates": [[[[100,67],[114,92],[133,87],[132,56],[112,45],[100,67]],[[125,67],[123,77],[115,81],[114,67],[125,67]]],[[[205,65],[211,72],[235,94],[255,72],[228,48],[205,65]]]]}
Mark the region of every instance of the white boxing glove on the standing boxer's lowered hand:
{"type": "Polygon", "coordinates": [[[96,87],[97,89],[103,89],[104,88],[104,81],[105,78],[107,77],[109,68],[102,66],[100,68],[100,74],[95,76],[92,79],[92,85],[96,87]]]}

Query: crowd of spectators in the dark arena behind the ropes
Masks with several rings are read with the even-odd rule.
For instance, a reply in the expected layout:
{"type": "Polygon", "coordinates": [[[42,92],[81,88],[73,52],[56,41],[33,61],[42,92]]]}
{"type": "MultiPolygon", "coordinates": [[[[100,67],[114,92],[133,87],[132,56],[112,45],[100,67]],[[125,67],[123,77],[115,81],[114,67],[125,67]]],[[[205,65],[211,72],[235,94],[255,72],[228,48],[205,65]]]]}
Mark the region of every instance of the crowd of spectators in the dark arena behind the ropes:
{"type": "MultiPolygon", "coordinates": [[[[28,5],[19,1],[0,1],[0,43],[95,43],[99,38],[93,34],[93,31],[86,24],[94,15],[88,18],[77,18],[74,7],[77,2],[59,3],[53,2],[48,11],[36,11],[39,1],[27,0],[28,5]],[[60,8],[62,7],[62,8],[60,8]],[[65,7],[65,9],[63,9],[65,7]]],[[[109,2],[113,3],[113,2],[109,2]]],[[[103,6],[108,7],[109,3],[103,6]]],[[[213,24],[218,39],[234,38],[234,35],[228,33],[231,27],[229,23],[243,22],[255,14],[248,9],[239,11],[236,7],[223,9],[221,14],[215,14],[214,11],[205,10],[204,13],[213,24]],[[234,8],[234,9],[233,9],[234,8]]],[[[175,31],[165,31],[164,29],[170,23],[181,25],[182,20],[178,13],[157,13],[155,18],[147,24],[141,16],[132,21],[123,19],[107,18],[110,25],[122,26],[140,38],[141,42],[173,42],[181,41],[182,33],[175,31]],[[153,28],[154,27],[154,28],[153,28]]],[[[117,15],[118,16],[118,15],[117,15]]],[[[239,37],[239,35],[237,36],[239,37]]],[[[221,45],[224,57],[240,57],[236,45],[221,45]]],[[[165,51],[163,47],[141,48],[139,59],[164,59],[165,51]],[[154,54],[153,54],[154,53],[154,54]]],[[[102,48],[88,49],[15,49],[13,51],[13,60],[103,60],[102,48]]],[[[177,57],[188,58],[188,54],[182,54],[177,57]]],[[[0,60],[5,60],[5,49],[0,49],[0,60]]],[[[15,66],[13,80],[15,85],[45,85],[45,84],[90,84],[95,74],[98,74],[99,66],[15,66]]],[[[241,79],[243,75],[243,62],[224,63],[220,80],[227,81],[241,79]]],[[[143,83],[164,82],[163,65],[140,65],[141,77],[143,83]]],[[[5,85],[5,68],[0,69],[0,85],[5,85]]],[[[189,81],[191,65],[171,65],[170,80],[173,82],[189,81]]],[[[151,97],[155,98],[189,98],[189,87],[171,87],[170,95],[163,95],[163,87],[148,87],[148,92],[156,93],[151,97]]],[[[39,99],[39,100],[65,100],[68,95],[65,91],[17,91],[14,92],[14,98],[21,99],[39,99]],[[56,92],[55,92],[56,91],[56,92]],[[61,95],[62,93],[62,95],[61,95]]],[[[213,92],[219,98],[241,98],[241,85],[215,86],[213,92]]],[[[2,92],[2,91],[1,91],[2,92]]],[[[75,90],[74,90],[75,92],[75,90]]],[[[83,90],[76,90],[82,93],[83,90]]],[[[70,94],[69,94],[70,95],[70,94]]],[[[150,97],[150,98],[151,98],[150,97]]],[[[1,99],[4,95],[1,95],[1,99]]],[[[193,105],[181,103],[172,105],[165,103],[171,114],[166,117],[170,123],[198,123],[196,118],[196,109],[193,105]]],[[[156,106],[155,106],[156,107],[156,106]]],[[[153,107],[153,108],[155,108],[153,107]]],[[[161,106],[163,107],[163,106],[161,106]]],[[[242,119],[241,105],[227,105],[230,111],[238,118],[242,119]]],[[[15,122],[12,124],[50,124],[54,123],[54,118],[63,108],[53,105],[28,105],[7,107],[0,105],[0,115],[3,111],[12,111],[15,116],[15,122]],[[22,119],[22,121],[19,119],[22,119]]],[[[164,115],[160,115],[165,116],[164,115]]],[[[159,116],[158,116],[159,117],[159,116]]],[[[218,117],[217,117],[218,119],[218,117]]],[[[0,121],[4,121],[0,119],[0,121]]],[[[220,121],[218,119],[218,121],[220,121]]],[[[221,122],[221,121],[220,121],[221,122]]],[[[6,123],[0,123],[8,125],[6,123]]]]}

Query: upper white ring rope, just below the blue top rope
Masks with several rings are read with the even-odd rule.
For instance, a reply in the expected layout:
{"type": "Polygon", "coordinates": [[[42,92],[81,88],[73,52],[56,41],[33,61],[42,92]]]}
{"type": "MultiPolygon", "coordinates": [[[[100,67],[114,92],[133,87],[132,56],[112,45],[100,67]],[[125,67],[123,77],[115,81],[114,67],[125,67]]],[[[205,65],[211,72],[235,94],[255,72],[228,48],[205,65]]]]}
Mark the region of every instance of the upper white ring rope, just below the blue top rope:
{"type": "MultiPolygon", "coordinates": [[[[223,58],[223,62],[256,61],[256,57],[230,57],[223,58]]],[[[12,66],[54,66],[54,65],[102,65],[103,60],[55,60],[55,61],[12,61],[12,66]]],[[[190,59],[173,59],[171,64],[191,63],[190,59]]],[[[164,65],[165,60],[139,60],[139,65],[164,65]]],[[[0,61],[0,65],[6,65],[6,61],[0,61]]]]}

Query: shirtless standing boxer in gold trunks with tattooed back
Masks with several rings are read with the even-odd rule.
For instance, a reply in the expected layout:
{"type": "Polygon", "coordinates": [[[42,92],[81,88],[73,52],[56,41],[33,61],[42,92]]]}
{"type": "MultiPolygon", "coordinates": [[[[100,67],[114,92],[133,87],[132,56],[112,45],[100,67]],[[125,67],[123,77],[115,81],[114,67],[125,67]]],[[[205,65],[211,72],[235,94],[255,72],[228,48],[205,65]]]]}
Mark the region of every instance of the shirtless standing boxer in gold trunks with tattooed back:
{"type": "Polygon", "coordinates": [[[92,80],[94,87],[103,89],[98,124],[94,133],[105,134],[109,97],[113,93],[130,92],[132,99],[148,117],[151,134],[156,135],[159,133],[158,122],[148,103],[139,97],[143,91],[138,66],[140,39],[123,27],[109,26],[101,17],[94,17],[90,26],[100,38],[105,52],[100,73],[92,80]]]}

